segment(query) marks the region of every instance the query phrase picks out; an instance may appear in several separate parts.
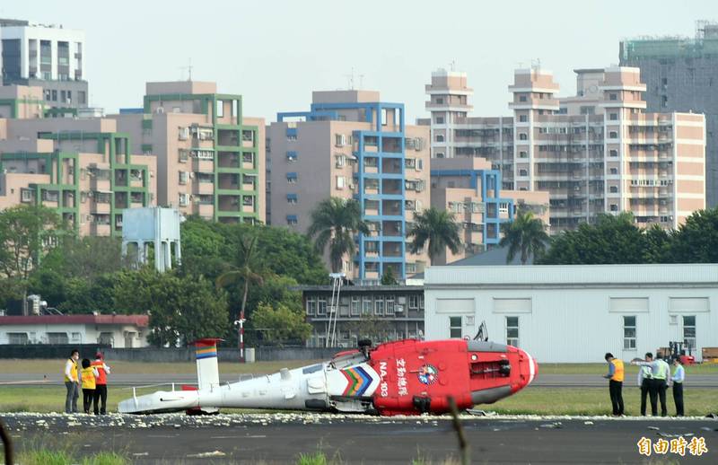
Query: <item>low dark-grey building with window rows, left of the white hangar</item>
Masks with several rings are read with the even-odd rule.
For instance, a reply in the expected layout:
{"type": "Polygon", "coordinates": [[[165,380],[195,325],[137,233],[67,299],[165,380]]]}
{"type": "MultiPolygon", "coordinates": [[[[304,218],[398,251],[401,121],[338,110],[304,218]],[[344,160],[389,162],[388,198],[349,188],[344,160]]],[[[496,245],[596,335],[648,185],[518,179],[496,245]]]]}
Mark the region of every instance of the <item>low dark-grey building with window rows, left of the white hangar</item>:
{"type": "MultiPolygon", "coordinates": [[[[312,327],[307,345],[326,347],[332,286],[308,285],[300,289],[307,321],[312,327]]],[[[336,347],[357,347],[359,340],[367,338],[373,343],[423,338],[424,287],[346,285],[339,294],[336,316],[336,347]]]]}

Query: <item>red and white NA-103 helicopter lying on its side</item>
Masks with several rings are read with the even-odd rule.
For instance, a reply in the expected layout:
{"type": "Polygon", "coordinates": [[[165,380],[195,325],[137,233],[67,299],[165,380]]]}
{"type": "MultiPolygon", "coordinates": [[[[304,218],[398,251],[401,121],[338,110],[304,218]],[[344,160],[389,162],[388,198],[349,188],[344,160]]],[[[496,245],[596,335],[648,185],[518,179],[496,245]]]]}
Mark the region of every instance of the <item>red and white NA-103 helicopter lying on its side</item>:
{"type": "Polygon", "coordinates": [[[216,343],[197,340],[197,388],[161,390],[119,402],[120,413],[215,413],[219,408],[270,408],[367,413],[441,414],[490,404],[530,384],[538,364],[517,347],[487,340],[416,339],[334,355],[331,360],[238,382],[219,382],[216,343]]]}

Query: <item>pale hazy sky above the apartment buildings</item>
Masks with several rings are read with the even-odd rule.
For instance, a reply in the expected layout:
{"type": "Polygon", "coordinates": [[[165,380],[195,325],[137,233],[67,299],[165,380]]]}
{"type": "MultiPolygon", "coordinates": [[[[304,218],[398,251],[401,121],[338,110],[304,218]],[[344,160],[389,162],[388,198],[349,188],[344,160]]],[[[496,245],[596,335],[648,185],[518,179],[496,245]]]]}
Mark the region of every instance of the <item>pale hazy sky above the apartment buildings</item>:
{"type": "Polygon", "coordinates": [[[573,70],[618,63],[618,43],[695,35],[718,21],[716,0],[32,0],[0,2],[0,17],[85,31],[90,103],[140,107],[147,81],[215,81],[240,93],[244,115],[276,120],[308,110],[311,91],[355,88],[427,115],[437,68],[468,74],[476,116],[509,115],[513,70],[552,70],[560,95],[573,70]],[[106,6],[107,5],[107,6],[106,6]],[[360,77],[361,76],[361,77],[360,77]]]}

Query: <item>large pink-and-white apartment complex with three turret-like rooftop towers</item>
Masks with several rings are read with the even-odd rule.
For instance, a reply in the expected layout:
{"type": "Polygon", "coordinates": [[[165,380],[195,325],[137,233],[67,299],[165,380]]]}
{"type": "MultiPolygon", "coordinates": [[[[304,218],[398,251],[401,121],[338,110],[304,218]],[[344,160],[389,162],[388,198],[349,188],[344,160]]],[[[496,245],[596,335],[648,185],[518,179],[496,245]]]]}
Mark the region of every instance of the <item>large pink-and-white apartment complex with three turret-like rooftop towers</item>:
{"type": "Polygon", "coordinates": [[[676,228],[705,207],[705,117],[645,113],[638,68],[578,69],[577,92],[558,98],[540,67],[509,86],[512,117],[469,117],[464,73],[440,70],[426,86],[435,158],[481,157],[504,189],[548,191],[550,232],[630,211],[643,226],[676,228]]]}

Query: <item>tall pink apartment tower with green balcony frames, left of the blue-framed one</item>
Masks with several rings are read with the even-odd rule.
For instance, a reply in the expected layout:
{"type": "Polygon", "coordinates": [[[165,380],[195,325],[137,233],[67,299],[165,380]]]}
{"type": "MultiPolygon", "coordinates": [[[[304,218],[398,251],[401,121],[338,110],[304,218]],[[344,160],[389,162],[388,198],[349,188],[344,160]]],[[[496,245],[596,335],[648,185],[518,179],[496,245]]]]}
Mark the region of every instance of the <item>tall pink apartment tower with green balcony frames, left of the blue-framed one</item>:
{"type": "Polygon", "coordinates": [[[144,107],[111,115],[157,160],[157,205],[222,223],[265,221],[265,122],[215,83],[147,83],[144,107]]]}

